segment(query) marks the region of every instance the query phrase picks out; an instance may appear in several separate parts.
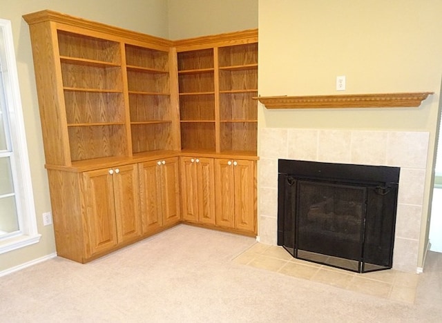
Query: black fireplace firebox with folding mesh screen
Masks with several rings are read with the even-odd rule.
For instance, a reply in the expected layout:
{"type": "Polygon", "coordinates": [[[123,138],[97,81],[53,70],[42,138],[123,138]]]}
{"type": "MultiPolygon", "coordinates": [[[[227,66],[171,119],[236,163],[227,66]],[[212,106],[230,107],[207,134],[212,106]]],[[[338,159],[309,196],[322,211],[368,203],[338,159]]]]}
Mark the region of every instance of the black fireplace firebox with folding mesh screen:
{"type": "Polygon", "coordinates": [[[279,159],[278,245],[365,273],[392,268],[400,168],[279,159]]]}

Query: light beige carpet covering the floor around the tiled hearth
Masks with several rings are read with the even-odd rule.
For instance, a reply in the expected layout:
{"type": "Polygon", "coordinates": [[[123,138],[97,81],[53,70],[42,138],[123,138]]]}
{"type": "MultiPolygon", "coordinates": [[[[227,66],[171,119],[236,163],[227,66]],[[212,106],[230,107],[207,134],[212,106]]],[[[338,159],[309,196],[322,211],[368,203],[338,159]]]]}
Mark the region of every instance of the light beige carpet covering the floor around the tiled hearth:
{"type": "Polygon", "coordinates": [[[0,277],[0,322],[442,322],[442,254],[414,304],[233,261],[255,240],[180,225],[86,265],[0,277]]]}

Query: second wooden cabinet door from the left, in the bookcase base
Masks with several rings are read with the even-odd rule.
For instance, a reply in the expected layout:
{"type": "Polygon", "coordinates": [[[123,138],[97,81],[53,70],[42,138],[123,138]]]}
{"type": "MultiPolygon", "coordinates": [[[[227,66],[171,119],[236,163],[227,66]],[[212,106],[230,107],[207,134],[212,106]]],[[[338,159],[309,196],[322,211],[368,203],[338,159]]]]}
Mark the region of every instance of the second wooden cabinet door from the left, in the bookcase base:
{"type": "Polygon", "coordinates": [[[118,242],[126,242],[141,235],[138,168],[135,164],[119,166],[113,170],[118,242]]]}

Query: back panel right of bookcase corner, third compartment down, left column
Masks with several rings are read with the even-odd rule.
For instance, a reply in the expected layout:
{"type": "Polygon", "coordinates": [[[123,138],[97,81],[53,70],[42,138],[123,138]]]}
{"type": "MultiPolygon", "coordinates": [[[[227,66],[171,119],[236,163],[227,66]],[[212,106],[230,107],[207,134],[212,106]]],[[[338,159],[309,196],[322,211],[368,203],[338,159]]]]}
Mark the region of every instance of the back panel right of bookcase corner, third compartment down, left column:
{"type": "Polygon", "coordinates": [[[215,120],[214,95],[182,95],[180,97],[182,120],[215,120]]]}

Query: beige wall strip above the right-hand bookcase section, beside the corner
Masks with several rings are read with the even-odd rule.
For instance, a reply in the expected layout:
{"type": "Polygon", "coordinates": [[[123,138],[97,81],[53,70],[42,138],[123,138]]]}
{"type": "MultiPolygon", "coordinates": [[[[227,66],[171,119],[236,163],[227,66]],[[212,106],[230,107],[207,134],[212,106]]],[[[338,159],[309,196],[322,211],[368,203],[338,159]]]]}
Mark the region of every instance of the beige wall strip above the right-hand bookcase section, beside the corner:
{"type": "Polygon", "coordinates": [[[258,28],[258,0],[169,0],[170,39],[252,28],[258,28]]]}

